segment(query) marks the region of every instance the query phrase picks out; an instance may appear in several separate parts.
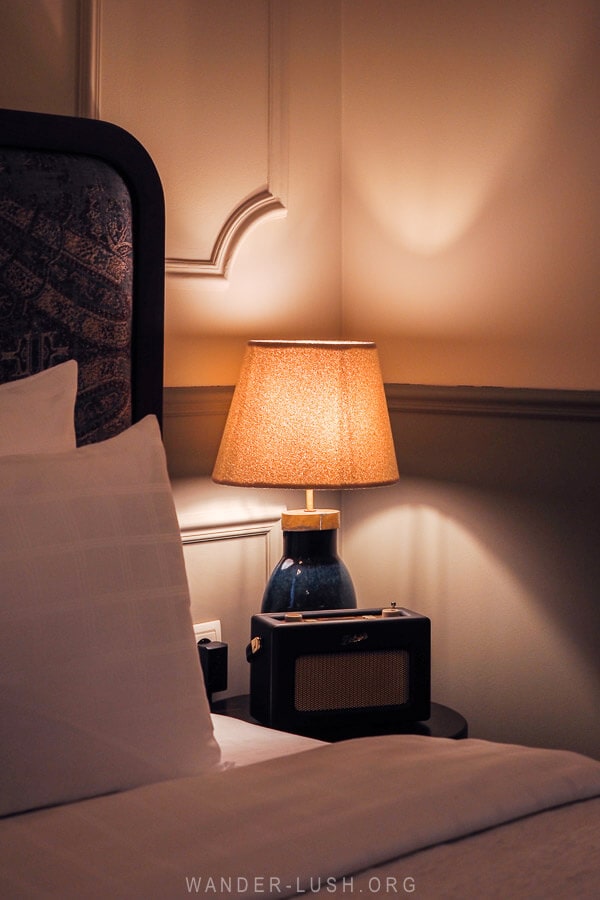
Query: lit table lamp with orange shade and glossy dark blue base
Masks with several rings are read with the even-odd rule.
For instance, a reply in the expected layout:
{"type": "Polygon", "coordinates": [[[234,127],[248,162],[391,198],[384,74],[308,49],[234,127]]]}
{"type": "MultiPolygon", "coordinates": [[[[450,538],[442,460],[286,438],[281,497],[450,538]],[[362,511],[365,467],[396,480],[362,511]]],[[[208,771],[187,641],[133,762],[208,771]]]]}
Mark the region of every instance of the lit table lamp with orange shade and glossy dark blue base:
{"type": "Polygon", "coordinates": [[[375,344],[250,341],[212,477],[306,492],[303,509],[281,516],[284,551],[262,612],[355,608],[337,555],[340,513],[315,508],[313,492],[398,480],[375,344]]]}

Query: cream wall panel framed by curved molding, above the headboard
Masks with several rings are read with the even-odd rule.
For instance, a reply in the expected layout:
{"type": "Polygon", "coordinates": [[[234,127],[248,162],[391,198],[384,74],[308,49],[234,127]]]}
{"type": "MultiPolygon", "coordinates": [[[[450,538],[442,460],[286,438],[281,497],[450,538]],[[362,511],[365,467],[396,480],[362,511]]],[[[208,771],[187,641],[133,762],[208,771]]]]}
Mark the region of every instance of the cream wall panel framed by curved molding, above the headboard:
{"type": "Polygon", "coordinates": [[[249,224],[285,211],[284,8],[102,0],[97,110],[161,173],[168,270],[222,277],[249,224]]]}

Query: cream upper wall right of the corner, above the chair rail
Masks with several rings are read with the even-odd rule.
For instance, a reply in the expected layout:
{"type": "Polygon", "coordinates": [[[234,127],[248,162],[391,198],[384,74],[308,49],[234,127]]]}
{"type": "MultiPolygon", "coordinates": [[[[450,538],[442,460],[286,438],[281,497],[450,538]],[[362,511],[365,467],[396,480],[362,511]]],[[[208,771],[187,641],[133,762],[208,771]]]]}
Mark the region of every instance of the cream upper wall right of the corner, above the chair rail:
{"type": "Polygon", "coordinates": [[[597,0],[343,0],[343,322],[388,382],[600,388],[597,0]]]}

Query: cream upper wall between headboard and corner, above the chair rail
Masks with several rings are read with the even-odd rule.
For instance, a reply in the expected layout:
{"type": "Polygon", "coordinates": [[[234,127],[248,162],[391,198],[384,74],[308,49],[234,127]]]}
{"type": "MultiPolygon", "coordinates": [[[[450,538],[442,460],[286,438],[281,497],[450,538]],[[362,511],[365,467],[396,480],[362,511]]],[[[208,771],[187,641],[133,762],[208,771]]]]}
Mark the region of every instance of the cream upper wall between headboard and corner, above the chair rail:
{"type": "Polygon", "coordinates": [[[233,383],[251,337],[337,336],[338,4],[103,0],[101,34],[100,114],[161,172],[167,257],[208,256],[273,181],[287,209],[244,236],[227,280],[167,269],[166,383],[233,383]]]}

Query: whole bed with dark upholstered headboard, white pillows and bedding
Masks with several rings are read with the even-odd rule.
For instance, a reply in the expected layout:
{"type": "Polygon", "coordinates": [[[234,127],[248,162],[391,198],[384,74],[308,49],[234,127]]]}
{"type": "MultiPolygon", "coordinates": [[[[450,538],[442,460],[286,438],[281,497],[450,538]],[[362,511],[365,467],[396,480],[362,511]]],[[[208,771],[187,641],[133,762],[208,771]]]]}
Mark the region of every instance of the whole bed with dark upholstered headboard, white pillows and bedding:
{"type": "Polygon", "coordinates": [[[211,714],[161,440],[164,209],[0,111],[0,895],[595,897],[600,763],[211,714]]]}

